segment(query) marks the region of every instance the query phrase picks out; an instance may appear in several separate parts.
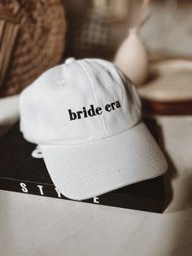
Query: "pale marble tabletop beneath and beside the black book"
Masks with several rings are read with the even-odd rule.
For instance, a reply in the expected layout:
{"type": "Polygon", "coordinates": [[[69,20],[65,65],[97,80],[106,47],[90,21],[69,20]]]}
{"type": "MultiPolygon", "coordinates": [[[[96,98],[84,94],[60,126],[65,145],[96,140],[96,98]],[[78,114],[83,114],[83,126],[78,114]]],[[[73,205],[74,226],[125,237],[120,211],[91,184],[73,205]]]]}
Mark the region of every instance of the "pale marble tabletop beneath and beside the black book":
{"type": "Polygon", "coordinates": [[[1,256],[191,256],[192,117],[159,117],[164,214],[0,191],[1,256]]]}

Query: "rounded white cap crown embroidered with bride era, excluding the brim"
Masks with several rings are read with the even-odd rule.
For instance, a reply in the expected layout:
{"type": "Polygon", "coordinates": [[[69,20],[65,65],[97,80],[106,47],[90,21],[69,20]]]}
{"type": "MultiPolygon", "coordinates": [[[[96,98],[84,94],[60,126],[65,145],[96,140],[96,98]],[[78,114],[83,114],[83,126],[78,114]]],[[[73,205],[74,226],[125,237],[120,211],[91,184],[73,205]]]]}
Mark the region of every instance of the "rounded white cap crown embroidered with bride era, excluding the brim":
{"type": "Polygon", "coordinates": [[[136,89],[105,60],[66,61],[20,95],[20,130],[37,144],[89,143],[129,130],[140,119],[136,89]]]}

